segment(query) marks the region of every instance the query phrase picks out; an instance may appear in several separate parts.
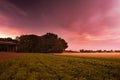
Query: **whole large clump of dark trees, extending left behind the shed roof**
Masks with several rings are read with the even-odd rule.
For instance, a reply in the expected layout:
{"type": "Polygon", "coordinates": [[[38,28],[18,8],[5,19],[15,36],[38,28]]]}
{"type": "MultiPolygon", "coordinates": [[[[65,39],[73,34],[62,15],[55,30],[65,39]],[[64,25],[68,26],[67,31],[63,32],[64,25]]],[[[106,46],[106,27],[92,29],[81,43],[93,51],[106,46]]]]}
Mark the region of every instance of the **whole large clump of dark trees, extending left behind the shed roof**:
{"type": "Polygon", "coordinates": [[[34,34],[21,35],[16,37],[16,39],[0,38],[0,41],[14,42],[17,46],[17,52],[26,53],[62,53],[68,47],[64,39],[53,33],[47,33],[42,36],[34,34]]]}

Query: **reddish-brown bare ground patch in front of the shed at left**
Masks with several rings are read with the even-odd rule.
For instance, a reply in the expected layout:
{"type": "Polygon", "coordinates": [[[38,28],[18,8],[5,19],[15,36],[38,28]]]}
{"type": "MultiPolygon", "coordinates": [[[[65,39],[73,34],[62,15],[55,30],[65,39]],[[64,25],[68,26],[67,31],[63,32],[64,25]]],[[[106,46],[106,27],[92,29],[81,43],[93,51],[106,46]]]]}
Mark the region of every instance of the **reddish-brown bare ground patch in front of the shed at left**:
{"type": "Polygon", "coordinates": [[[21,53],[0,53],[0,62],[6,59],[10,59],[10,58],[15,58],[15,57],[20,57],[23,54],[21,53]]]}

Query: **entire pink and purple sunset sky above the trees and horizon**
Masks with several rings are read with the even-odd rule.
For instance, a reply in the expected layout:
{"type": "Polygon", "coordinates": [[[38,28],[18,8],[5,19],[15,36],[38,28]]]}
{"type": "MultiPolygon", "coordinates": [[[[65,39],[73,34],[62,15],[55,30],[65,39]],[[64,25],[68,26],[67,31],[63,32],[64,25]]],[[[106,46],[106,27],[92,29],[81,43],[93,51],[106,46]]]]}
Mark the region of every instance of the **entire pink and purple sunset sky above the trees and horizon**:
{"type": "Polygon", "coordinates": [[[118,50],[120,0],[0,0],[0,37],[48,32],[68,50],[118,50]]]}

